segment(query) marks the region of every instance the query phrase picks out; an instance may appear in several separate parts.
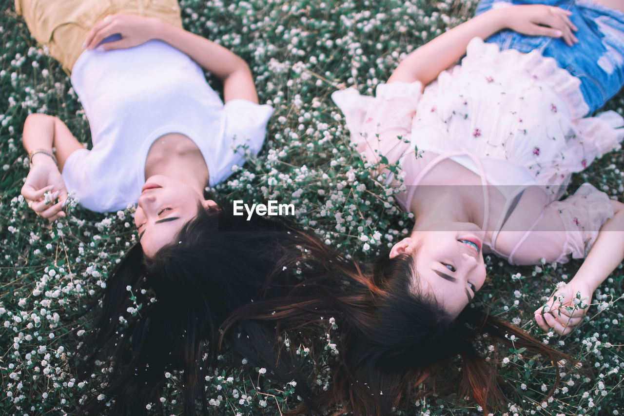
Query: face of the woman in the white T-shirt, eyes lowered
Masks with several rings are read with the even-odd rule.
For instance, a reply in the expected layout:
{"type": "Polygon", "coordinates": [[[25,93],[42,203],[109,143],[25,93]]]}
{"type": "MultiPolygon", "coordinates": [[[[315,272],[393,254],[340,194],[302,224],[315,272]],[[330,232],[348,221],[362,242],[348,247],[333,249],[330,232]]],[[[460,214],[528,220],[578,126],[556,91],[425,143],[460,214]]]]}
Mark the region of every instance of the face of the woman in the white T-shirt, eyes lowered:
{"type": "Polygon", "coordinates": [[[185,182],[168,176],[150,176],[134,213],[144,254],[152,257],[163,245],[172,242],[182,225],[197,215],[199,202],[206,208],[217,205],[205,201],[185,182]]]}

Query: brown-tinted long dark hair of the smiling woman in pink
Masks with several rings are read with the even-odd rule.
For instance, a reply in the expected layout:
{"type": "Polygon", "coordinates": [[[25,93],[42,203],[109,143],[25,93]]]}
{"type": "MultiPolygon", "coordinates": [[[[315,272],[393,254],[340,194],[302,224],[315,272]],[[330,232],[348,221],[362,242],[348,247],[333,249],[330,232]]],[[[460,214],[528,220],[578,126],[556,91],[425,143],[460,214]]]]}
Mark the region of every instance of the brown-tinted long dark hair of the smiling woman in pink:
{"type": "MultiPolygon", "coordinates": [[[[305,403],[293,410],[295,414],[387,415],[401,399],[451,389],[459,397],[472,394],[490,412],[504,397],[497,385],[499,363],[488,362],[475,347],[482,335],[553,362],[573,362],[519,327],[480,310],[467,307],[451,319],[434,299],[414,294],[411,282],[416,267],[409,255],[394,259],[385,255],[362,268],[308,238],[305,259],[290,259],[290,265],[293,261],[307,265],[303,282],[293,285],[285,297],[241,307],[224,329],[240,326],[250,334],[237,345],[245,357],[272,370],[283,382],[296,380],[305,403]],[[322,349],[311,349],[308,363],[312,364],[302,367],[296,354],[280,341],[288,338],[297,344],[322,338],[327,330],[319,324],[323,317],[333,317],[338,326],[338,357],[329,364],[333,382],[327,390],[314,387],[316,376],[324,370],[314,367],[323,362],[314,354],[322,349]],[[270,339],[273,342],[267,344],[270,339]]],[[[557,364],[554,367],[558,380],[557,364]]]]}

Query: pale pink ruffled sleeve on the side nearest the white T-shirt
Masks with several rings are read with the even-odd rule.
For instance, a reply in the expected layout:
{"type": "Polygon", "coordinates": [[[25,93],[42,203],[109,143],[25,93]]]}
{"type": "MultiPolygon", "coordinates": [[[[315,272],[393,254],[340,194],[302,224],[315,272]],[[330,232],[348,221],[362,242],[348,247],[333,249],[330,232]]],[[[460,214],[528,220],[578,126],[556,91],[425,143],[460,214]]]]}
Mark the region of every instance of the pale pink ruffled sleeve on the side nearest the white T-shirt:
{"type": "Polygon", "coordinates": [[[381,156],[394,163],[406,154],[421,96],[422,84],[418,81],[379,84],[374,98],[362,96],[353,88],[331,94],[344,114],[351,142],[372,164],[381,156]]]}

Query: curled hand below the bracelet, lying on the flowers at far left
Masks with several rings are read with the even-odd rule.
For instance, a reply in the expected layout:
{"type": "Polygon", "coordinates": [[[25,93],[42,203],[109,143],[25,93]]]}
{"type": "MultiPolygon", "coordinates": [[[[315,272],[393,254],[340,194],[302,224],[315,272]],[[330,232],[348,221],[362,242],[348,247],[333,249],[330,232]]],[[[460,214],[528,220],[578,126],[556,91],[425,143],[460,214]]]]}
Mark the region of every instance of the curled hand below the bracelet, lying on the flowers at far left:
{"type": "Polygon", "coordinates": [[[26,182],[22,186],[22,195],[37,215],[50,222],[56,221],[65,216],[63,212],[63,205],[67,200],[65,182],[51,157],[41,154],[34,156],[37,157],[37,162],[32,164],[31,171],[28,172],[26,182]]]}

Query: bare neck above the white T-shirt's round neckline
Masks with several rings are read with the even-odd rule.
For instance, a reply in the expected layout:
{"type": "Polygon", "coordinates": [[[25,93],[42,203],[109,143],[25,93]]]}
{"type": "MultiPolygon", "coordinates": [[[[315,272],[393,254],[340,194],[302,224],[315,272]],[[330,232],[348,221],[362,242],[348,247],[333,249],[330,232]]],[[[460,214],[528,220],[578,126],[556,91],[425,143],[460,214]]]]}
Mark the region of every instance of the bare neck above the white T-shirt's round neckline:
{"type": "Polygon", "coordinates": [[[208,167],[202,152],[183,134],[165,134],[152,143],[145,159],[145,178],[153,175],[165,175],[183,181],[200,195],[208,186],[208,167]]]}

